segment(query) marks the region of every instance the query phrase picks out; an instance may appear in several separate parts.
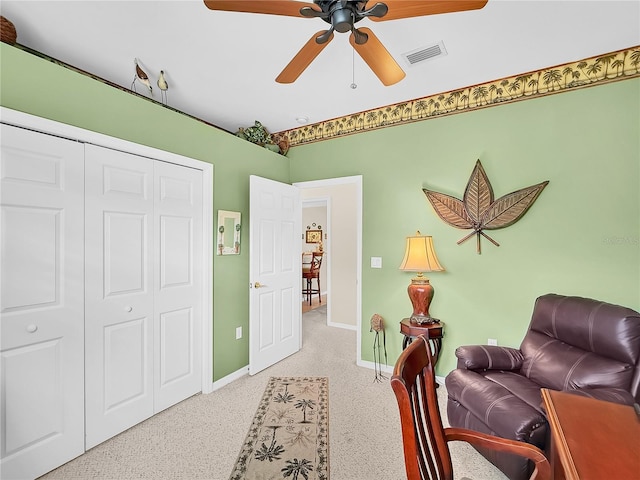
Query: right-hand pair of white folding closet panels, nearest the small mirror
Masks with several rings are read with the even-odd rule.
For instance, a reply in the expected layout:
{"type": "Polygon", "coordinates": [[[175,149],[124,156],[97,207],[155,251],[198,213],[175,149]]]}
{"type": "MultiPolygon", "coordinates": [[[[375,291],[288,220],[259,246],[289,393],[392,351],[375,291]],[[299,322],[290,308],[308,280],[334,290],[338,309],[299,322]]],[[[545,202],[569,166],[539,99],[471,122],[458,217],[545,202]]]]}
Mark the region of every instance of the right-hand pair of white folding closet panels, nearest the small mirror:
{"type": "Polygon", "coordinates": [[[86,448],[201,389],[201,175],[85,147],[86,448]]]}

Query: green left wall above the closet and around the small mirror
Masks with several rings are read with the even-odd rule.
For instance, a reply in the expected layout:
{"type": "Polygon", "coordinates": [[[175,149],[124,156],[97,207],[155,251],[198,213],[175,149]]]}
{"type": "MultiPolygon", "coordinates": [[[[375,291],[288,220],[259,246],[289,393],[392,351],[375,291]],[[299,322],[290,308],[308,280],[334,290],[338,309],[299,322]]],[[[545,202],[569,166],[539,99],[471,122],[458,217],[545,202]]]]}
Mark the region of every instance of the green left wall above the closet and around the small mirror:
{"type": "Polygon", "coordinates": [[[18,48],[2,43],[0,55],[3,107],[214,165],[214,212],[239,211],[244,225],[241,254],[213,259],[214,380],[245,367],[248,335],[235,340],[235,328],[249,331],[249,175],[289,182],[289,160],[18,48]]]}

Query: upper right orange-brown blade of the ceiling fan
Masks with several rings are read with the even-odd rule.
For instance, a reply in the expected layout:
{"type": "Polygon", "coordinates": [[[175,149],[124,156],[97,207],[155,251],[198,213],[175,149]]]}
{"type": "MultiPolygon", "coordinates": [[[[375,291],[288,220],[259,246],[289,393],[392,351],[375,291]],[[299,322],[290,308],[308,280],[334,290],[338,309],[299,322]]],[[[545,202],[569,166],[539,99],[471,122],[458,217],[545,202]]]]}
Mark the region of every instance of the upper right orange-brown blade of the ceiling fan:
{"type": "Polygon", "coordinates": [[[367,17],[374,22],[478,10],[484,7],[488,0],[370,0],[365,9],[373,8],[379,1],[385,3],[389,11],[383,17],[367,17]]]}

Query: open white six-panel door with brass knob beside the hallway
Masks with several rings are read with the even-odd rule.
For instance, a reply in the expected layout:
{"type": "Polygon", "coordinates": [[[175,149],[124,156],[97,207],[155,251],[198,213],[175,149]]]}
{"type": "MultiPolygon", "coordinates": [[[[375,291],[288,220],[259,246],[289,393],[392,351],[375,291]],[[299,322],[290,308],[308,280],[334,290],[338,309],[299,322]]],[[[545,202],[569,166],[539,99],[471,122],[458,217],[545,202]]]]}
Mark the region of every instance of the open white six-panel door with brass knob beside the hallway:
{"type": "Polygon", "coordinates": [[[300,350],[301,206],[298,189],[250,177],[249,374],[300,350]]]}

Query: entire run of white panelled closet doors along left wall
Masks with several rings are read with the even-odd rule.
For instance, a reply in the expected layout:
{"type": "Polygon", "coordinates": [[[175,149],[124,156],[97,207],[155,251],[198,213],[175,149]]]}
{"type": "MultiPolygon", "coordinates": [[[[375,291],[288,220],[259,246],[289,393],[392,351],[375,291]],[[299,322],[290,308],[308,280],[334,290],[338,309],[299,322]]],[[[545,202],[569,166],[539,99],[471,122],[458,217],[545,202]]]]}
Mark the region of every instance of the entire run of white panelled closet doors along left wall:
{"type": "Polygon", "coordinates": [[[1,476],[34,478],[201,390],[202,172],[2,125],[1,187],[1,476]]]}

